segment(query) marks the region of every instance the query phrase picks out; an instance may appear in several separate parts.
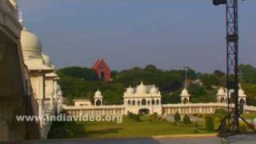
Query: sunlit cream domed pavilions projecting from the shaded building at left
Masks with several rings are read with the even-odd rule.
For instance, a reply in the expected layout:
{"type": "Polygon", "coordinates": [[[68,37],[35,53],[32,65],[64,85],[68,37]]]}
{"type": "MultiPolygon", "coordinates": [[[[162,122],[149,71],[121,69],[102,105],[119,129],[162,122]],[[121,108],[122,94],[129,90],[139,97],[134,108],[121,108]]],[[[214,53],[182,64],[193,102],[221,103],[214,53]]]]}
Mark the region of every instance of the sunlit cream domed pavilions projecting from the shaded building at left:
{"type": "MultiPolygon", "coordinates": [[[[58,75],[50,57],[42,54],[42,42],[36,34],[24,27],[21,33],[21,46],[24,62],[30,75],[30,83],[33,89],[33,97],[38,102],[38,115],[42,118],[46,115],[59,114],[62,110],[62,92],[58,86],[58,75]]],[[[39,122],[40,137],[47,138],[51,122],[39,122]]]]}

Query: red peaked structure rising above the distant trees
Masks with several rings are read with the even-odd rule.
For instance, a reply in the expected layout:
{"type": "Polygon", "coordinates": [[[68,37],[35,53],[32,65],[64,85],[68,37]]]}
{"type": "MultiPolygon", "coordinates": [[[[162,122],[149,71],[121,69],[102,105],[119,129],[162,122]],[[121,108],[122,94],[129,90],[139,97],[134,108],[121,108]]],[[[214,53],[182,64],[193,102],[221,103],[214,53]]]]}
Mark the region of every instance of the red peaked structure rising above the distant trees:
{"type": "Polygon", "coordinates": [[[97,61],[94,63],[93,69],[96,70],[98,78],[105,82],[111,81],[112,78],[110,66],[108,66],[103,59],[97,59],[97,61]]]}

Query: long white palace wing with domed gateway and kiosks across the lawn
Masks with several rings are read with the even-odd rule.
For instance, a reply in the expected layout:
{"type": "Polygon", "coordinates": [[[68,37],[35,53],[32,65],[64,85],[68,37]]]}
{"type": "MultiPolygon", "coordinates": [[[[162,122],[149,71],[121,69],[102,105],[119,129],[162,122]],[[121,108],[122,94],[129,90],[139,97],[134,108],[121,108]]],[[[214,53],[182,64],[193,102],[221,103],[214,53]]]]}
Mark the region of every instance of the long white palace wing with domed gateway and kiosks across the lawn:
{"type": "MultiPolygon", "coordinates": [[[[122,105],[102,105],[102,93],[97,90],[94,94],[94,104],[88,99],[74,99],[74,106],[65,106],[63,109],[71,115],[126,115],[133,114],[154,114],[167,115],[175,114],[214,114],[216,109],[226,109],[226,90],[222,87],[216,94],[216,102],[190,103],[192,97],[188,90],[183,89],[181,103],[162,104],[161,92],[154,85],[145,86],[143,82],[136,87],[128,87],[123,94],[122,105]]],[[[246,94],[240,86],[239,102],[244,102],[245,112],[256,111],[255,106],[246,105],[246,94]]]]}

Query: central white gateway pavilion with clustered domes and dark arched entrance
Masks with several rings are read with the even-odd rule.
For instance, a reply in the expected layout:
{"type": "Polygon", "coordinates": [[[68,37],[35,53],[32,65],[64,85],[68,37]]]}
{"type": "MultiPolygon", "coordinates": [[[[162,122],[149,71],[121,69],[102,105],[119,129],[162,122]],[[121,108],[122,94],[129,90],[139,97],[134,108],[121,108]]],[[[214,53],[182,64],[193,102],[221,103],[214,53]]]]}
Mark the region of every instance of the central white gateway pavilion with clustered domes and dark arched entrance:
{"type": "Polygon", "coordinates": [[[128,87],[123,95],[125,114],[162,114],[161,93],[154,85],[141,82],[136,88],[128,87]]]}

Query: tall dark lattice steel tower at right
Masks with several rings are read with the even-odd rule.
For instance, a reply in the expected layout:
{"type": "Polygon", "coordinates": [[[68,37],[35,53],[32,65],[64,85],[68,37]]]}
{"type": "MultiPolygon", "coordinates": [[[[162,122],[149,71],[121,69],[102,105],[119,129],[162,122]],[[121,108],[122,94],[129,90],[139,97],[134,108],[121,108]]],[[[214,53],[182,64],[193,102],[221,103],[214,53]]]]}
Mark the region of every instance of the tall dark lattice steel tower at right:
{"type": "MultiPolygon", "coordinates": [[[[226,5],[226,87],[228,114],[219,126],[219,135],[239,134],[243,103],[238,102],[238,0],[214,0],[215,6],[226,5]],[[230,93],[234,90],[234,93],[230,93]]],[[[248,126],[250,124],[246,122],[248,126]]],[[[254,127],[250,126],[253,130],[254,127]]],[[[254,130],[255,131],[255,130],[254,130]]]]}

